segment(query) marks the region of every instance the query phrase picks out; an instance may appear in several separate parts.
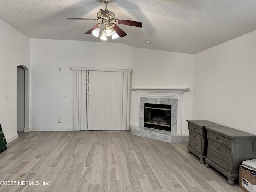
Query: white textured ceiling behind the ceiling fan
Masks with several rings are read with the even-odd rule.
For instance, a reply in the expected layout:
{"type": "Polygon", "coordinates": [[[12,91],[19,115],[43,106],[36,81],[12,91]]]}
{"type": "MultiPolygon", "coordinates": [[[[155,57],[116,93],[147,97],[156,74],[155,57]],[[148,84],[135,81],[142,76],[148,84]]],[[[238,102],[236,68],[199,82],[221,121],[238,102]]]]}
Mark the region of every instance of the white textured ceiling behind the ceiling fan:
{"type": "MultiPolygon", "coordinates": [[[[97,21],[67,18],[96,19],[104,8],[102,0],[0,0],[0,18],[29,38],[100,42],[84,34],[97,21]]],[[[198,53],[256,30],[256,0],[111,0],[108,10],[143,26],[119,24],[127,36],[107,42],[141,48],[198,53]]]]}

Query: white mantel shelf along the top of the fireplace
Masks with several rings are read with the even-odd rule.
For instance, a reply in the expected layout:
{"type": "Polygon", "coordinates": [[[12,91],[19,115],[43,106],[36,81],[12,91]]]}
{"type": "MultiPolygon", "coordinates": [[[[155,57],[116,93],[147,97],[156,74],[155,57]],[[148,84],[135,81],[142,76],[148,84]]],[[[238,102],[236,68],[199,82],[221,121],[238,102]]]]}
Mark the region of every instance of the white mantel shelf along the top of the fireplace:
{"type": "Polygon", "coordinates": [[[147,92],[147,93],[184,93],[185,91],[189,90],[189,88],[134,88],[131,87],[131,90],[136,92],[147,92]]]}

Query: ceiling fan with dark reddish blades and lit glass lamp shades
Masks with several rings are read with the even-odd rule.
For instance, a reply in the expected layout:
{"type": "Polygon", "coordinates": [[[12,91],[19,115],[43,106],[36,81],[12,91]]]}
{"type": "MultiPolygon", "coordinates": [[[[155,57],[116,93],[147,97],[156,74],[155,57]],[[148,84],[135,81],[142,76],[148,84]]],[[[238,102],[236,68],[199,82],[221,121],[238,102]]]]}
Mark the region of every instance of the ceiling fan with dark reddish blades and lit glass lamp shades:
{"type": "Polygon", "coordinates": [[[116,24],[142,27],[142,23],[138,21],[116,19],[115,14],[107,9],[107,4],[110,2],[110,0],[102,0],[102,1],[105,3],[106,8],[104,10],[100,9],[100,11],[97,13],[96,19],[86,19],[86,18],[68,18],[68,19],[100,21],[100,23],[94,25],[85,34],[93,34],[94,36],[98,37],[101,29],[102,34],[100,36],[100,39],[105,41],[107,40],[107,36],[112,36],[112,39],[115,39],[115,38],[118,38],[119,36],[124,37],[127,35],[116,24]]]}

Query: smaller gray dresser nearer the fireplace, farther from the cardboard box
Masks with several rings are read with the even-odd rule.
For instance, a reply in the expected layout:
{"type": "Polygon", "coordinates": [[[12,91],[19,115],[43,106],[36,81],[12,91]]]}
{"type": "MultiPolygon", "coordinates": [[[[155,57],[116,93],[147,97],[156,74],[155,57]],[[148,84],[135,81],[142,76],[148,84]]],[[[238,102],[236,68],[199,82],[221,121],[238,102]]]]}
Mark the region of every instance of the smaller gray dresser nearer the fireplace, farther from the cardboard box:
{"type": "MultiPolygon", "coordinates": [[[[204,159],[207,155],[207,138],[205,126],[222,126],[207,120],[187,120],[189,138],[188,153],[195,154],[200,158],[200,163],[205,164],[204,159]]],[[[223,126],[222,126],[223,127],[223,126]]]]}

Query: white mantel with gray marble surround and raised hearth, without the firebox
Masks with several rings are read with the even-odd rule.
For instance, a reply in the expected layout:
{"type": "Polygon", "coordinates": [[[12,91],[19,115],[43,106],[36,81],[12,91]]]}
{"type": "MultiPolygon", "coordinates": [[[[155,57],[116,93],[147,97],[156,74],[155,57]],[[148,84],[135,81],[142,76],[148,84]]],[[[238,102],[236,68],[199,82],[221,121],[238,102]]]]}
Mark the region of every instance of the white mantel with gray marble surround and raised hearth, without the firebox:
{"type": "Polygon", "coordinates": [[[130,88],[136,92],[136,125],[130,125],[134,135],[178,143],[188,142],[188,135],[181,134],[183,93],[188,88],[130,88]],[[144,104],[172,105],[171,132],[144,127],[144,104]]]}

